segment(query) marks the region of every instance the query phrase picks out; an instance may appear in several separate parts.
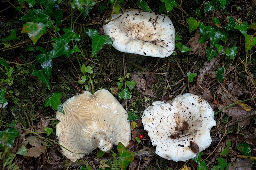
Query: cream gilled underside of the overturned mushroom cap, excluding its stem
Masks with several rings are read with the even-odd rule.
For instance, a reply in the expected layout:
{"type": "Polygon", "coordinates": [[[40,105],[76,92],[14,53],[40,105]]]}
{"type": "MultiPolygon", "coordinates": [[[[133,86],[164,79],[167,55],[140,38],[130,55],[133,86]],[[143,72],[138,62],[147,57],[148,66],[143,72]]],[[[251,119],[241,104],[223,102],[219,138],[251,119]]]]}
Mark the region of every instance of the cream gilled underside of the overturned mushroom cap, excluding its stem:
{"type": "Polygon", "coordinates": [[[128,114],[108,90],[98,90],[94,95],[84,91],[69,98],[62,106],[65,115],[61,112],[56,114],[60,121],[56,136],[63,146],[62,153],[73,162],[96,149],[92,135],[97,130],[105,132],[115,145],[122,142],[127,146],[131,140],[128,114]]]}

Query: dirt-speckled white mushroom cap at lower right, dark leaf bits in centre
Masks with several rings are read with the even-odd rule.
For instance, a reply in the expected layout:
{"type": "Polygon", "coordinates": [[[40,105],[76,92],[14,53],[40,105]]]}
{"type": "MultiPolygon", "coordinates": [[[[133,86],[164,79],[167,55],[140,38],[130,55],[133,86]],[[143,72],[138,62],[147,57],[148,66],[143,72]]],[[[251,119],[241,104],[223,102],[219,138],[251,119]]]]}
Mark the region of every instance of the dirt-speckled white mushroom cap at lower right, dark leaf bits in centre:
{"type": "Polygon", "coordinates": [[[199,152],[209,147],[210,129],[216,125],[209,104],[190,93],[148,107],[141,118],[152,145],[156,146],[156,154],[176,162],[196,157],[190,141],[198,145],[199,152]]]}

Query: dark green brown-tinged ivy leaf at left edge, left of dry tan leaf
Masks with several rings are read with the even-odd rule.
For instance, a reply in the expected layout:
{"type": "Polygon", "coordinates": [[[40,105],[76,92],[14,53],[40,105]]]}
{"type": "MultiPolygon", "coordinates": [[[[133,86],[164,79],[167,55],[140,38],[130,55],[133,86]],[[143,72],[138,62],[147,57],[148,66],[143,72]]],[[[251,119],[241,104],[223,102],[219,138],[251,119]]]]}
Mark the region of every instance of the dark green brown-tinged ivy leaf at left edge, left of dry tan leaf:
{"type": "Polygon", "coordinates": [[[18,137],[19,131],[14,128],[8,128],[4,131],[0,131],[0,147],[4,150],[5,146],[8,146],[10,148],[13,147],[14,139],[18,137]]]}

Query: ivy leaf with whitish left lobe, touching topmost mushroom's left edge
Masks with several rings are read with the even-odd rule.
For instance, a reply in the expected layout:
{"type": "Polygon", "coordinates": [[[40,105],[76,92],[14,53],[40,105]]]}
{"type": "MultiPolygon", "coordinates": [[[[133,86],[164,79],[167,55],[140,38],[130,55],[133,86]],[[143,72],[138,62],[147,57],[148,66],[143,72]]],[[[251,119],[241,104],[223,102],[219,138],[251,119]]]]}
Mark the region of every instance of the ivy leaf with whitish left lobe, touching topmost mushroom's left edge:
{"type": "Polygon", "coordinates": [[[111,38],[108,35],[99,35],[95,29],[89,29],[85,33],[92,38],[92,56],[96,55],[105,44],[113,44],[111,38]]]}

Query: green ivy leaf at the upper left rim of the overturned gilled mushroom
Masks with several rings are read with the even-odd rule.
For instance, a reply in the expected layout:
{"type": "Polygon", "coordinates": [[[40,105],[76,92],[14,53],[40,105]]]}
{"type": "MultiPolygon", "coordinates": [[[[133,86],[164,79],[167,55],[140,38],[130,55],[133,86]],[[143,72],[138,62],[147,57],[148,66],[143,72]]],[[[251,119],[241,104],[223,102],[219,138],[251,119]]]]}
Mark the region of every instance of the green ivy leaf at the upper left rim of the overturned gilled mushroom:
{"type": "Polygon", "coordinates": [[[53,109],[65,114],[60,101],[60,96],[61,96],[61,93],[54,92],[50,98],[45,100],[44,107],[51,106],[53,109]]]}

